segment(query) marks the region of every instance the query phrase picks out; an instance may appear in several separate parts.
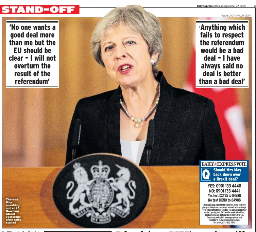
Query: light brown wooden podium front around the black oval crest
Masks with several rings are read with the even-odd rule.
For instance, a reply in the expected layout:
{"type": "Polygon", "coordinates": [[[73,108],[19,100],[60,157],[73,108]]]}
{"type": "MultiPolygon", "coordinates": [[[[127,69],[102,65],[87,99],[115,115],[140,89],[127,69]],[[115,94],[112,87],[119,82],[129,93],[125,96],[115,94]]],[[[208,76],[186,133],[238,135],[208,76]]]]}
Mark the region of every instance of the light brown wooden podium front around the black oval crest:
{"type": "MultiPolygon", "coordinates": [[[[3,168],[3,228],[81,228],[54,205],[52,186],[61,167],[3,168]],[[6,224],[6,198],[16,198],[21,221],[6,224]]],[[[143,166],[152,195],[142,214],[122,228],[222,228],[199,225],[199,166],[143,166]]],[[[66,194],[66,193],[65,193],[66,194]]]]}

